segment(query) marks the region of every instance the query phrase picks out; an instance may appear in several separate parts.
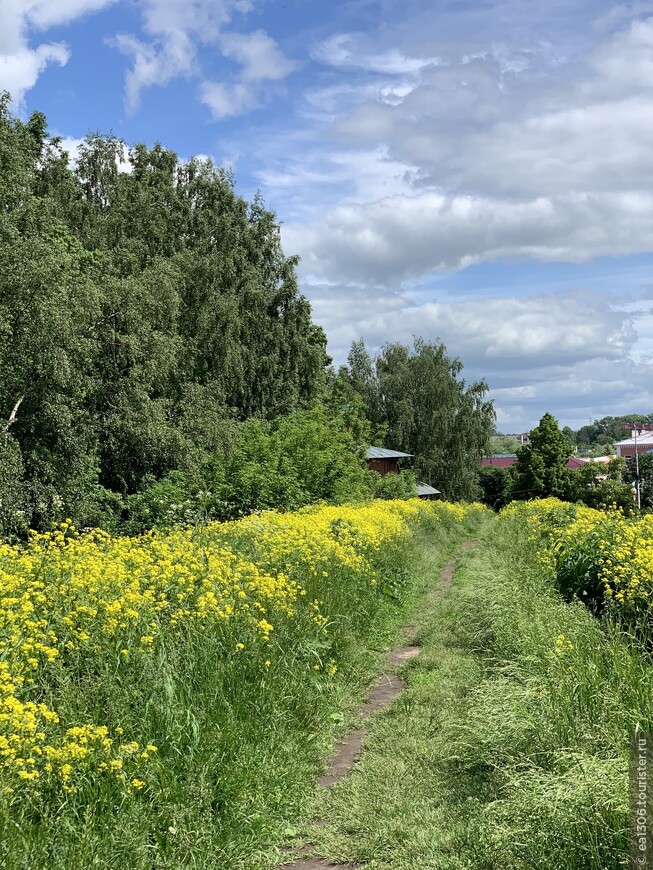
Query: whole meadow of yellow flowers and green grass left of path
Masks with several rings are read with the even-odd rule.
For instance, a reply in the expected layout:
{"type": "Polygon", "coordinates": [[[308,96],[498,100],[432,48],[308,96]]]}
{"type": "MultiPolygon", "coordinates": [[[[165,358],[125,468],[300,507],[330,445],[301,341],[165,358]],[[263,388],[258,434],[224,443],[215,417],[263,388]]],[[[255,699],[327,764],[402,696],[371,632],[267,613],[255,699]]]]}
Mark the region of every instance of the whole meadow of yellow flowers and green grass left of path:
{"type": "Polygon", "coordinates": [[[419,592],[486,512],[269,513],[0,547],[0,864],[275,865],[419,592]]]}

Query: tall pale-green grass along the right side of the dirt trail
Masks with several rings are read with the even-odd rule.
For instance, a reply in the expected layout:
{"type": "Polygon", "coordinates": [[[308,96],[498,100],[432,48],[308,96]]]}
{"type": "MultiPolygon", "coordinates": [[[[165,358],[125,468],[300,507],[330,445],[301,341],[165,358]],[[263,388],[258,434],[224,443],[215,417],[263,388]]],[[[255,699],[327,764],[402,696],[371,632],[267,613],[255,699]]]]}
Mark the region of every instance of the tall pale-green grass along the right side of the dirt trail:
{"type": "Polygon", "coordinates": [[[523,517],[490,534],[448,604],[483,676],[438,739],[446,770],[490,786],[479,866],[625,867],[628,734],[653,727],[653,668],[624,631],[561,598],[523,517]]]}

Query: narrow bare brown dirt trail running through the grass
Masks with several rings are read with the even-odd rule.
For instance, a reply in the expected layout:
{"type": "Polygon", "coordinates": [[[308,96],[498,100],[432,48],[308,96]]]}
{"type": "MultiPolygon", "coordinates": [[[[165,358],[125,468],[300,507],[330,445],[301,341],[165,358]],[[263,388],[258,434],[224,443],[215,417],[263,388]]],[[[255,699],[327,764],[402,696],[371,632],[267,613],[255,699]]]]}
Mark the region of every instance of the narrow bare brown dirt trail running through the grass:
{"type": "MultiPolygon", "coordinates": [[[[469,540],[464,542],[462,549],[472,550],[475,546],[476,541],[469,540]]],[[[441,595],[451,584],[457,564],[458,559],[453,558],[447,562],[440,572],[437,589],[438,594],[441,595]]],[[[403,631],[407,643],[405,646],[397,647],[388,653],[388,664],[390,665],[403,664],[403,662],[419,655],[420,648],[415,643],[417,632],[416,627],[413,625],[406,625],[404,626],[403,631]]],[[[382,674],[372,687],[368,699],[361,709],[363,722],[365,723],[373,713],[382,710],[384,707],[391,704],[402,693],[405,686],[406,684],[397,674],[392,672],[382,674]]],[[[326,771],[318,780],[319,786],[322,788],[331,788],[339,779],[347,776],[363,751],[366,731],[365,724],[363,724],[362,728],[352,731],[352,733],[348,734],[347,737],[340,741],[340,743],[336,744],[334,752],[327,762],[326,771]]],[[[314,824],[319,825],[320,820],[317,819],[314,824]]],[[[282,870],[293,870],[293,868],[294,870],[324,870],[324,868],[329,867],[340,868],[340,870],[348,870],[348,868],[349,870],[354,870],[356,867],[365,866],[362,863],[334,864],[325,858],[315,856],[313,854],[315,852],[315,847],[310,844],[303,846],[300,849],[289,848],[288,851],[292,851],[294,855],[301,855],[303,853],[310,855],[311,857],[300,857],[295,860],[291,859],[288,863],[281,865],[282,870]]]]}

